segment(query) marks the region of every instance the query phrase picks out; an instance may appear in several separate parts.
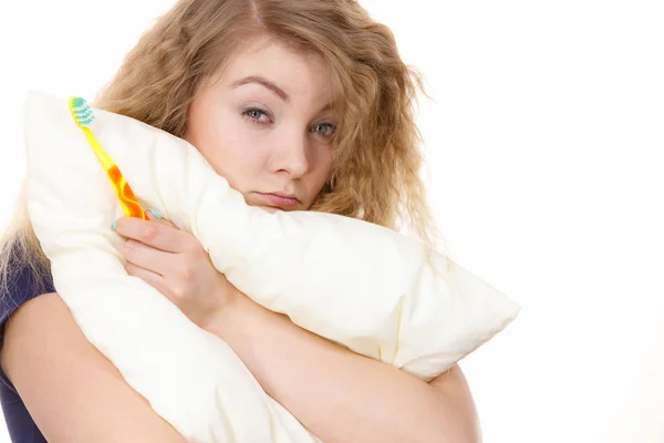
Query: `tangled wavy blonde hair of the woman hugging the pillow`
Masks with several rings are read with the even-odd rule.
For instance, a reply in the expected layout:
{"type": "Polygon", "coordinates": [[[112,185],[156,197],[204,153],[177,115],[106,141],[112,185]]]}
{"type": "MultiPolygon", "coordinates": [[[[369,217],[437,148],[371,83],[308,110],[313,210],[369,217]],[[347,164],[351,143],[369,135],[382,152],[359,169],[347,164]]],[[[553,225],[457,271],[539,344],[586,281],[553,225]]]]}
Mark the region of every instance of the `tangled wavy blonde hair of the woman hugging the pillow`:
{"type": "MultiPolygon", "coordinates": [[[[393,33],[355,0],[180,0],[146,31],[94,103],[181,137],[199,86],[248,38],[268,35],[323,56],[341,116],[334,171],[312,210],[409,229],[432,247],[437,235],[421,177],[415,124],[417,71],[402,61],[393,33]]],[[[44,288],[50,264],[30,224],[25,185],[0,253],[44,288]]]]}

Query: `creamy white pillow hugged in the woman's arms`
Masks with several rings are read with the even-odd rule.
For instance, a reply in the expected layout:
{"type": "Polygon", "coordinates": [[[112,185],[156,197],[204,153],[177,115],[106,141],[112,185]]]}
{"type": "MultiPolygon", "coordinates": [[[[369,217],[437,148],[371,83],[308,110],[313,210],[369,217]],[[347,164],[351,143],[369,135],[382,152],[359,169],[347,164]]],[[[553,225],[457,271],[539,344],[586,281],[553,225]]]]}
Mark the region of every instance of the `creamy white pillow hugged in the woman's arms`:
{"type": "MultiPolygon", "coordinates": [[[[330,214],[248,206],[187,142],[94,110],[91,125],[143,207],[193,233],[258,303],[424,380],[511,322],[519,307],[393,230],[330,214]]],[[[123,215],[68,101],[25,103],[28,207],[54,286],[86,338],[195,442],[317,441],[269,398],[232,350],[124,270],[123,215]]]]}

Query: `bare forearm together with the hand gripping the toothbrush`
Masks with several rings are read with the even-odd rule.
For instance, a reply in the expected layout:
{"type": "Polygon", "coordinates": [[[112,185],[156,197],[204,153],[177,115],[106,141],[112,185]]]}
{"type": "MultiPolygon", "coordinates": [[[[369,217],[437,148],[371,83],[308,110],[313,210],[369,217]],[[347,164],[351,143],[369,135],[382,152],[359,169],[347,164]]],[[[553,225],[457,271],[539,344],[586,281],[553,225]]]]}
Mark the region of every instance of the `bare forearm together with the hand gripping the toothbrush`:
{"type": "Polygon", "coordinates": [[[168,220],[123,217],[127,272],[225,340],[268,394],[325,443],[479,442],[458,367],[430,384],[293,324],[238,291],[168,220]]]}

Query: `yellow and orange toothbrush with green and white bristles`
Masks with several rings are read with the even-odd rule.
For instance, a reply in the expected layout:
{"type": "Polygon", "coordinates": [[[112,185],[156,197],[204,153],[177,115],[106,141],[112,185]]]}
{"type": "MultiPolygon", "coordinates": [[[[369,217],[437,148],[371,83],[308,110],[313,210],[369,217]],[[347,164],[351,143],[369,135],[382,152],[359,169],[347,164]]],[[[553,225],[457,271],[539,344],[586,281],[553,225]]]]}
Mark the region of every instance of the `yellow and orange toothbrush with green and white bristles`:
{"type": "Polygon", "coordinates": [[[90,107],[84,99],[75,96],[70,97],[69,107],[76,126],[79,126],[85,134],[85,138],[87,138],[90,147],[92,147],[92,151],[95,153],[96,157],[102,164],[102,167],[106,172],[106,175],[111,179],[111,184],[113,185],[115,194],[117,194],[120,205],[122,206],[125,215],[127,217],[137,217],[143,220],[147,219],[147,215],[141,207],[141,204],[136,199],[136,196],[129,187],[129,184],[120,172],[120,168],[115,162],[111,159],[108,154],[106,154],[104,148],[100,145],[92,133],[92,130],[90,128],[91,123],[94,121],[92,107],[90,107]]]}

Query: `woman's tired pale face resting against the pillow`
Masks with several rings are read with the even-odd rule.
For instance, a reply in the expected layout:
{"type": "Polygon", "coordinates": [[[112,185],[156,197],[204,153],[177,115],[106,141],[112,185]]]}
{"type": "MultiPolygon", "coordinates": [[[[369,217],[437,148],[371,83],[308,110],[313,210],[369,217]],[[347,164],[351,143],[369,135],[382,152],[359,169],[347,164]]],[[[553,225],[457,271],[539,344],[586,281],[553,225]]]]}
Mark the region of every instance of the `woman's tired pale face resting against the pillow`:
{"type": "Polygon", "coordinates": [[[201,86],[184,138],[247,204],[308,209],[332,173],[329,79],[318,54],[250,41],[201,86]]]}

